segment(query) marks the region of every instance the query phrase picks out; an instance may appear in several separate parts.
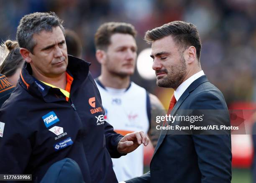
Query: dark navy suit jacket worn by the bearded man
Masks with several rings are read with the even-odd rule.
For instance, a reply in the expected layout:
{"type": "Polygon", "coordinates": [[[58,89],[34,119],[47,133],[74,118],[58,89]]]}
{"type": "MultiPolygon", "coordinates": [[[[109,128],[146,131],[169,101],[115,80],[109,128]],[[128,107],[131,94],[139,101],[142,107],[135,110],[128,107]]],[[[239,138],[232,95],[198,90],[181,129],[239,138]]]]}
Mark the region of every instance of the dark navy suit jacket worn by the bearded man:
{"type": "MultiPolygon", "coordinates": [[[[214,109],[207,114],[209,124],[230,126],[228,108],[223,94],[207,77],[195,80],[179,98],[170,115],[181,109],[214,109]],[[179,110],[178,110],[179,109],[179,110]],[[222,112],[218,112],[221,109],[222,112]],[[223,112],[224,111],[224,112],[223,112]]],[[[185,114],[184,114],[185,115],[185,114]]],[[[126,183],[230,183],[231,138],[224,135],[175,135],[161,131],[150,171],[126,183]],[[167,134],[166,134],[167,133],[167,134]]]]}

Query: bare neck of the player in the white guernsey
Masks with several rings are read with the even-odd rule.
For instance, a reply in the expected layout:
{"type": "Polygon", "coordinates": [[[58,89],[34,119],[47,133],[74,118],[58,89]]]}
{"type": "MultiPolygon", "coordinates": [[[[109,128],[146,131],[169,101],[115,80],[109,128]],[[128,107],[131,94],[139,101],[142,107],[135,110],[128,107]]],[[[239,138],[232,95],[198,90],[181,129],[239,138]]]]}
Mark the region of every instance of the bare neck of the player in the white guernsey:
{"type": "Polygon", "coordinates": [[[113,76],[110,74],[101,74],[99,76],[99,81],[105,87],[122,89],[122,88],[128,88],[130,84],[130,76],[120,77],[116,75],[113,76]]]}

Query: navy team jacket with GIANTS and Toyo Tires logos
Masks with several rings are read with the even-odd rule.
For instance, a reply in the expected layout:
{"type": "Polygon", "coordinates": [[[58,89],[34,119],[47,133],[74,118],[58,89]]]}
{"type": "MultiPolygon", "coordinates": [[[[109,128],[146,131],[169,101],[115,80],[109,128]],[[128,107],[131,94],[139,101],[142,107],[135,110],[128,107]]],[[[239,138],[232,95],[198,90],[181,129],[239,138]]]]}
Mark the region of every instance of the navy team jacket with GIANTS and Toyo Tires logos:
{"type": "MultiPolygon", "coordinates": [[[[111,158],[123,137],[104,121],[90,63],[69,56],[74,78],[67,102],[59,89],[31,76],[25,64],[18,85],[0,109],[0,174],[32,174],[39,182],[63,158],[75,160],[85,183],[117,183],[111,158]]],[[[67,175],[68,176],[68,175],[67,175]]]]}

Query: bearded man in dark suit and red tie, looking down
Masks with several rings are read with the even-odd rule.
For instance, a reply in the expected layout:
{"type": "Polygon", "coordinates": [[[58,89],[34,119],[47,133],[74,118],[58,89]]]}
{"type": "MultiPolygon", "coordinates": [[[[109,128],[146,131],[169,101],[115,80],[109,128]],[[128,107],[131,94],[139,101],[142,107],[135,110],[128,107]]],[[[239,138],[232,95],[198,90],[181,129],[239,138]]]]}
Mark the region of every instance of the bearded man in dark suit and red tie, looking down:
{"type": "MultiPolygon", "coordinates": [[[[200,114],[205,113],[204,119],[200,123],[190,120],[190,125],[230,127],[223,94],[208,81],[201,69],[201,41],[195,25],[183,21],[167,23],[147,31],[145,40],[152,44],[152,68],[156,71],[156,84],[174,89],[168,114],[191,116],[199,111],[200,114]]],[[[168,126],[175,127],[177,124],[186,126],[177,120],[167,121],[168,126]]],[[[150,171],[125,182],[231,182],[230,130],[179,131],[185,135],[177,135],[177,131],[161,130],[150,171]]]]}

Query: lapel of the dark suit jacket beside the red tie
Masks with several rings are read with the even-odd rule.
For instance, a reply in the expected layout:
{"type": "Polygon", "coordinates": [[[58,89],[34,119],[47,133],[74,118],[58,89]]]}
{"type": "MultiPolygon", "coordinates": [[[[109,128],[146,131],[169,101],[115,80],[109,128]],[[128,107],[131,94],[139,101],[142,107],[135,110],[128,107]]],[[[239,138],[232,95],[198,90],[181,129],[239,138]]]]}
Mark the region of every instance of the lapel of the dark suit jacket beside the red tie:
{"type": "MultiPolygon", "coordinates": [[[[194,82],[192,82],[192,84],[189,85],[189,87],[184,91],[182,96],[179,98],[177,103],[174,105],[170,115],[174,116],[175,113],[177,112],[177,110],[179,109],[180,105],[189,96],[190,92],[195,90],[200,84],[202,84],[204,82],[207,82],[207,81],[208,81],[208,79],[204,75],[204,76],[201,76],[200,78],[196,79],[194,82]]],[[[169,123],[168,123],[168,125],[169,125],[169,123]]],[[[154,155],[155,155],[156,151],[158,150],[158,148],[160,147],[160,145],[162,144],[162,142],[164,141],[164,138],[165,138],[167,132],[168,132],[168,130],[161,130],[161,134],[160,134],[159,140],[157,142],[157,145],[156,145],[156,148],[155,148],[155,151],[154,151],[154,155]]],[[[153,155],[153,157],[154,157],[154,155],[153,155]]]]}

